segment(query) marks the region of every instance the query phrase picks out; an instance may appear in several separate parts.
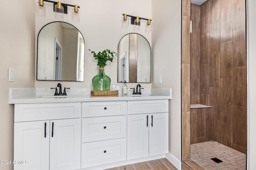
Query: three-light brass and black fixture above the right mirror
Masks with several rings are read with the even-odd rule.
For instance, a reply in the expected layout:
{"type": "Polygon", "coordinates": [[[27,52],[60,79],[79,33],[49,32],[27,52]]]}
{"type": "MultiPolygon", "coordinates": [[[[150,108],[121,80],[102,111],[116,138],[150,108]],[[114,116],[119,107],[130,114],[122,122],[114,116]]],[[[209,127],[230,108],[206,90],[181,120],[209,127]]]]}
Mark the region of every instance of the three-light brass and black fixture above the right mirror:
{"type": "MultiPolygon", "coordinates": [[[[151,19],[146,19],[146,18],[140,18],[138,16],[130,16],[127,14],[123,14],[123,24],[128,25],[128,17],[131,18],[131,24],[134,25],[134,29],[139,30],[140,29],[140,21],[141,20],[146,20],[146,31],[151,31],[151,19]]],[[[124,27],[124,26],[123,26],[124,27]]],[[[127,26],[128,27],[128,26],[127,26]]]]}

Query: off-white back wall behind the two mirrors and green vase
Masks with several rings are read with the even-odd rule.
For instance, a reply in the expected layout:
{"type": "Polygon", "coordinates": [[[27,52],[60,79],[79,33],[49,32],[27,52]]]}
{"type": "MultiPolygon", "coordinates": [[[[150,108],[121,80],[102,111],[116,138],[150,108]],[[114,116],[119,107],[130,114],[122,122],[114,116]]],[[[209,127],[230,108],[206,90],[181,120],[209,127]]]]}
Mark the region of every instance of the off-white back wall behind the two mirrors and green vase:
{"type": "MultiPolygon", "coordinates": [[[[36,0],[35,0],[36,1],[36,0]]],[[[139,33],[148,39],[151,45],[151,33],[145,32],[146,20],[141,21],[140,31],[133,29],[129,24],[128,29],[122,28],[122,14],[151,18],[151,0],[62,0],[62,3],[78,4],[80,21],[72,21],[72,7],[68,8],[68,14],[64,14],[61,21],[74,25],[84,36],[85,40],[85,76],[84,82],[61,82],[63,87],[92,87],[92,78],[98,74],[97,62],[87,51],[103,51],[110,49],[118,52],[118,43],[127,33],[139,33]],[[136,5],[134,5],[136,4],[136,5]]],[[[54,18],[52,3],[46,4],[46,17],[36,16],[36,37],[40,29],[49,22],[57,21],[54,18]]],[[[37,41],[37,40],[36,40],[37,41]]],[[[35,42],[36,42],[35,41],[35,42]]],[[[117,83],[117,59],[105,67],[105,73],[110,76],[111,84],[122,86],[117,83]]],[[[36,87],[55,87],[54,81],[36,81],[36,87]]],[[[128,83],[128,89],[135,87],[136,83],[128,83]]],[[[144,88],[150,88],[151,84],[141,84],[144,88]]]]}

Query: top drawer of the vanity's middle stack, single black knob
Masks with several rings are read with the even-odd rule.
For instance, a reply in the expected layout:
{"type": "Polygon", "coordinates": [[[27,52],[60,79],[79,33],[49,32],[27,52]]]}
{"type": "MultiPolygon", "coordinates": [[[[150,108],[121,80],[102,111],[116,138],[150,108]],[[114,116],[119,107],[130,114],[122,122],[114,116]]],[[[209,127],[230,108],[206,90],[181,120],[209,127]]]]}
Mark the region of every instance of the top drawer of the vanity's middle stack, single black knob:
{"type": "Polygon", "coordinates": [[[82,103],[82,117],[114,115],[126,115],[126,101],[82,103]]]}

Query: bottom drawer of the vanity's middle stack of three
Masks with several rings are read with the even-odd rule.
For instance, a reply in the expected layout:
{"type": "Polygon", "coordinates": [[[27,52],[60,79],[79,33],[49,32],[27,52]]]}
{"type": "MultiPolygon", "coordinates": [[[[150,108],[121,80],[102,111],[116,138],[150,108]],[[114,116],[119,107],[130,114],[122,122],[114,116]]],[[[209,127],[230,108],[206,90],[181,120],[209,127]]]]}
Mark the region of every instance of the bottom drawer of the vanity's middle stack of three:
{"type": "Polygon", "coordinates": [[[82,168],[126,160],[126,138],[82,143],[82,168]]]}

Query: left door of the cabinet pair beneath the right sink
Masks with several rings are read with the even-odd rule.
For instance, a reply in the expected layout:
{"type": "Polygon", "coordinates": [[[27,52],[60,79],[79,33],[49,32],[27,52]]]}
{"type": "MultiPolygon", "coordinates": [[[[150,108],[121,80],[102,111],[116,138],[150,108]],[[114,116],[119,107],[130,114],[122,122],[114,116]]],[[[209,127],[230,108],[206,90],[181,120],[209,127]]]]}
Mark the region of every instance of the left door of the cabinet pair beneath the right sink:
{"type": "Polygon", "coordinates": [[[148,156],[148,114],[127,116],[127,159],[148,156]]]}

